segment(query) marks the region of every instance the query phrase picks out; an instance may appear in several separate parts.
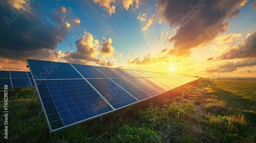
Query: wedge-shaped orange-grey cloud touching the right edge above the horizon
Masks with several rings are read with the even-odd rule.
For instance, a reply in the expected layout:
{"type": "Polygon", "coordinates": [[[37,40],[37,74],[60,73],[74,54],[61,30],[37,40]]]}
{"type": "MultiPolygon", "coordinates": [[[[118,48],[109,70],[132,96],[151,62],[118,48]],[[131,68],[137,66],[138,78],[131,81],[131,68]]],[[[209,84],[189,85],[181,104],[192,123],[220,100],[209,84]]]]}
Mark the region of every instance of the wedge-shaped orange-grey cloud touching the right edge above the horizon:
{"type": "Polygon", "coordinates": [[[256,31],[252,35],[249,35],[244,43],[234,46],[228,52],[222,54],[218,59],[243,59],[256,57],[256,31]]]}

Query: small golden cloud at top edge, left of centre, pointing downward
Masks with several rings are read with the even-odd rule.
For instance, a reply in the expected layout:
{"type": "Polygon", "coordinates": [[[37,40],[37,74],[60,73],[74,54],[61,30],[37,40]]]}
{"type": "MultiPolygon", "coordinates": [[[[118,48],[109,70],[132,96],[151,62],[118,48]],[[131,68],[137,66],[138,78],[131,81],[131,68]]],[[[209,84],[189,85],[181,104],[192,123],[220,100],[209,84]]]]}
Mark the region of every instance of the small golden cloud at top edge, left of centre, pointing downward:
{"type": "Polygon", "coordinates": [[[95,4],[99,4],[99,6],[103,7],[103,10],[106,10],[109,12],[110,15],[114,14],[116,12],[116,6],[114,5],[116,3],[115,0],[93,0],[95,4]]]}

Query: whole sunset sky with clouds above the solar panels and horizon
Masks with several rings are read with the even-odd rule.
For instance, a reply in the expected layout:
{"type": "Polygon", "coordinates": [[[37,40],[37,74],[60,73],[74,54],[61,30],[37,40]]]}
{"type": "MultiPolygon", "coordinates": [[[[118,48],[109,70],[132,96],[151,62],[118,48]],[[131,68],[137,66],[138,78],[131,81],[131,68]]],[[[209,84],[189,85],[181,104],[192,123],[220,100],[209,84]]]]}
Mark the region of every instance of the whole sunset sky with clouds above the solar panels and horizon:
{"type": "Polygon", "coordinates": [[[26,59],[255,77],[256,1],[0,2],[0,70],[26,59]]]}

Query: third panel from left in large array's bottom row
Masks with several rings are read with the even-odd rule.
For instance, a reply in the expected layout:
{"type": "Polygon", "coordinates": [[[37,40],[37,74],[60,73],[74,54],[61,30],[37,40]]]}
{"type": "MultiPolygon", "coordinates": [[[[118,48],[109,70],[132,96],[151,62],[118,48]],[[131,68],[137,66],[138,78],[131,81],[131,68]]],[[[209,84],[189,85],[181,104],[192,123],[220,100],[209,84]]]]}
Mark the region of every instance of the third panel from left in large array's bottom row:
{"type": "Polygon", "coordinates": [[[123,89],[125,89],[127,92],[131,93],[135,98],[138,100],[144,100],[147,98],[150,98],[146,92],[132,84],[131,82],[125,80],[125,79],[112,79],[115,83],[117,83],[119,86],[121,86],[123,89]]]}

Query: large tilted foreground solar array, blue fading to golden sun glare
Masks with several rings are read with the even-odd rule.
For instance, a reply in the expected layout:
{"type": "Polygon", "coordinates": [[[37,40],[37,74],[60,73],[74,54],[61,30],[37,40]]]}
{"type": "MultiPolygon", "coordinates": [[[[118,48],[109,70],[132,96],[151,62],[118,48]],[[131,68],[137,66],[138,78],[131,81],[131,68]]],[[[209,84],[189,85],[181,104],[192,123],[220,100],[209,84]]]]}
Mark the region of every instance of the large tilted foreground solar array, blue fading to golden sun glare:
{"type": "Polygon", "coordinates": [[[153,71],[27,59],[50,132],[197,80],[153,71]]]}

